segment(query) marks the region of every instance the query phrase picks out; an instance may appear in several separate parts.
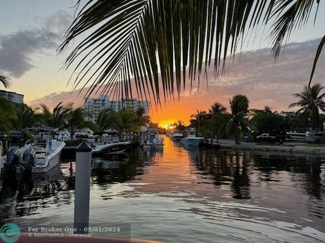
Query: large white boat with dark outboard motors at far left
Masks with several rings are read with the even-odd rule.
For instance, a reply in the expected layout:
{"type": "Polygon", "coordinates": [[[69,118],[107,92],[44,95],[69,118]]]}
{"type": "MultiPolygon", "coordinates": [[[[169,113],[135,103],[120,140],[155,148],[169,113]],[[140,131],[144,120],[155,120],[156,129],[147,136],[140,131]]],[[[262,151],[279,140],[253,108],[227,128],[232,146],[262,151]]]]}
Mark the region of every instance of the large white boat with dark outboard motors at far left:
{"type": "Polygon", "coordinates": [[[34,132],[36,136],[29,139],[21,148],[12,148],[2,158],[5,174],[46,173],[60,163],[60,154],[66,143],[51,139],[58,128],[34,127],[24,132],[34,132]]]}

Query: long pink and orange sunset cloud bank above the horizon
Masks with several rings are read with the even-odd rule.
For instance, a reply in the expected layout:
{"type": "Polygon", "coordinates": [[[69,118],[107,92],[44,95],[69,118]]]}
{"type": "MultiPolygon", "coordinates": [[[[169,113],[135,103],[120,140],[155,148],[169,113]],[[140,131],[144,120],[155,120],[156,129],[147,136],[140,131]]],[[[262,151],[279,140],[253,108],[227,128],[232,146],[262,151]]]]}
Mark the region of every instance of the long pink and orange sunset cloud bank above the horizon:
{"type": "MultiPolygon", "coordinates": [[[[195,83],[192,92],[189,93],[189,85],[182,92],[180,102],[163,104],[157,112],[153,106],[152,118],[155,121],[182,119],[189,120],[189,116],[196,109],[207,110],[214,102],[220,102],[229,107],[229,98],[236,94],[245,94],[250,100],[251,108],[263,108],[265,105],[273,107],[273,110],[288,110],[288,105],[295,99],[292,94],[300,93],[304,85],[308,84],[313,58],[320,39],[302,43],[289,43],[283,56],[274,65],[270,58],[270,49],[247,51],[238,57],[226,73],[214,78],[213,67],[208,70],[208,83],[201,81],[198,91],[195,83]],[[177,112],[175,112],[177,111],[177,112]]],[[[321,55],[313,78],[313,83],[324,84],[325,56],[321,55]]],[[[39,103],[55,106],[60,101],[82,104],[82,98],[86,90],[75,92],[62,92],[51,94],[30,102],[34,107],[39,103]]]]}

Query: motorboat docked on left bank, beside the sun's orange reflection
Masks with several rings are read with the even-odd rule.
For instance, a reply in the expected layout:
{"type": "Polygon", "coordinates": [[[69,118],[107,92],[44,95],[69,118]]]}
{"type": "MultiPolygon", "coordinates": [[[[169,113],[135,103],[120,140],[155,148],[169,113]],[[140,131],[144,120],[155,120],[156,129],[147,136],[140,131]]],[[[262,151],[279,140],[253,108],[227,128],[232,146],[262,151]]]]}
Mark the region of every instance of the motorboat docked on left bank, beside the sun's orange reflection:
{"type": "Polygon", "coordinates": [[[164,138],[159,135],[159,129],[149,128],[142,133],[141,145],[144,150],[164,149],[164,138]]]}

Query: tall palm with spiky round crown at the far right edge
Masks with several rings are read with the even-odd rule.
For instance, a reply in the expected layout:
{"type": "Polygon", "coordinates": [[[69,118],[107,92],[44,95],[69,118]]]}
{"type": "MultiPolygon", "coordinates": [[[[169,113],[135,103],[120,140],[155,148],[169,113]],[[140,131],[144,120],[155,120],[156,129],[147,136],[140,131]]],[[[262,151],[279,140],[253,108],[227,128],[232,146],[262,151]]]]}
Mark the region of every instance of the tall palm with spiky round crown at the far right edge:
{"type": "Polygon", "coordinates": [[[315,128],[319,124],[319,110],[325,111],[325,102],[322,100],[325,97],[325,93],[321,92],[324,88],[320,84],[315,84],[309,89],[305,86],[300,94],[293,94],[294,97],[300,100],[289,105],[289,108],[301,107],[297,112],[302,111],[308,114],[312,126],[315,128]]]}

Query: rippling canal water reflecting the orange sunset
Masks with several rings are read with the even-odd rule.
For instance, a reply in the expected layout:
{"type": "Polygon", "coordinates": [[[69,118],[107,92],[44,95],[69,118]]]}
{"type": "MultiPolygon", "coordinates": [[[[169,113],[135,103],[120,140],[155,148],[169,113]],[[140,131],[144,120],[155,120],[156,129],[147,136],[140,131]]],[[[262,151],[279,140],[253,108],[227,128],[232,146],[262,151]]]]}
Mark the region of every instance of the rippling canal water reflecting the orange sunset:
{"type": "MultiPolygon", "coordinates": [[[[323,158],[165,141],[93,159],[90,226],[130,223],[132,237],[163,242],[325,242],[323,158]]],[[[74,169],[3,182],[0,223],[71,224],[74,169]]]]}

